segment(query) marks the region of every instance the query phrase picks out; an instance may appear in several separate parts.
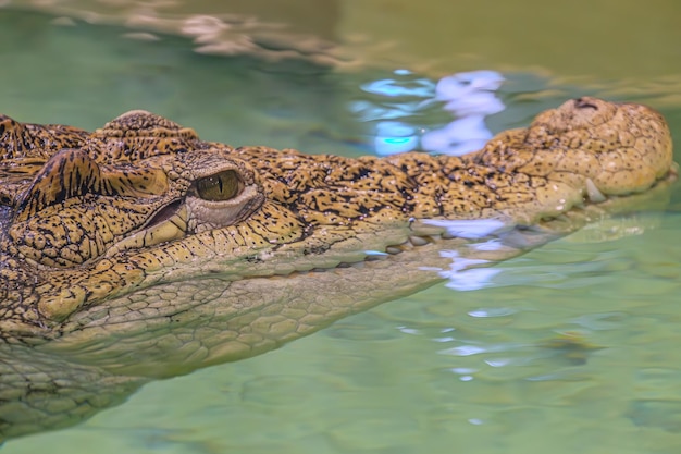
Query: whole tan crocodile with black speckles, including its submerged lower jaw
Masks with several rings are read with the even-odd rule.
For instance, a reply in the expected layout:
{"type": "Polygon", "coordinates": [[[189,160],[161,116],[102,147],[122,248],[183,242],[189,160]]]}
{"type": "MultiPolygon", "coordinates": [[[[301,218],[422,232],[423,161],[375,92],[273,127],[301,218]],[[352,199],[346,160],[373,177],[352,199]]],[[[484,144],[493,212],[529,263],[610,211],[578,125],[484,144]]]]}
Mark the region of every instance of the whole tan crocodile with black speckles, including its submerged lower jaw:
{"type": "Polygon", "coordinates": [[[1,116],[0,433],[36,430],[7,393],[54,414],[16,382],[69,397],[45,377],[88,377],[112,405],[441,282],[453,257],[521,254],[676,173],[658,112],[591,97],[462,157],[232,147],[141,110],[95,132],[1,116]]]}

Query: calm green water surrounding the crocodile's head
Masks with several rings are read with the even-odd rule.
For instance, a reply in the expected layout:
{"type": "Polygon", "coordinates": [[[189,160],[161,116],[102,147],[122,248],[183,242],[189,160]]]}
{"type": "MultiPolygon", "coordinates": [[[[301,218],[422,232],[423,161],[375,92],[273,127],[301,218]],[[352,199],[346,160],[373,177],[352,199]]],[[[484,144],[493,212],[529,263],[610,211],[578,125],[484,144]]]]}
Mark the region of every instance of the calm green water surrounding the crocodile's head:
{"type": "MultiPolygon", "coordinates": [[[[424,15],[439,8],[434,1],[420,3],[424,15]]],[[[518,2],[521,11],[521,3],[533,5],[518,2]]],[[[0,110],[23,121],[94,128],[125,110],[144,108],[196,126],[209,139],[358,155],[372,151],[373,124],[360,122],[349,106],[387,102],[360,87],[395,77],[399,68],[414,71],[414,79],[433,82],[444,71],[494,69],[507,78],[498,91],[507,109],[488,121],[495,131],[527,124],[532,114],[567,97],[594,94],[648,102],[681,137],[681,59],[679,41],[671,39],[678,35],[668,25],[681,11],[673,3],[659,11],[646,5],[636,14],[636,7],[626,2],[609,2],[611,9],[596,2],[600,15],[589,15],[584,29],[599,29],[611,47],[583,45],[584,60],[575,59],[570,36],[564,58],[560,48],[554,47],[549,58],[537,45],[532,60],[527,36],[516,37],[516,54],[490,57],[482,53],[481,42],[487,42],[482,37],[496,36],[498,28],[481,26],[467,41],[470,52],[481,54],[457,49],[446,56],[448,62],[433,51],[420,54],[418,42],[398,52],[395,42],[387,45],[392,36],[381,32],[380,17],[357,38],[352,27],[362,26],[356,19],[362,10],[351,1],[333,4],[334,14],[343,16],[335,19],[333,32],[345,46],[333,57],[347,62],[348,54],[366,46],[367,56],[375,59],[383,37],[388,50],[382,59],[336,68],[321,64],[331,58],[206,56],[182,37],[131,39],[123,36],[129,29],[119,26],[81,20],[54,24],[63,11],[42,15],[0,9],[0,110]],[[630,23],[616,21],[622,17],[630,23]],[[639,24],[637,17],[644,21],[639,24]],[[648,32],[660,40],[653,44],[648,32]],[[583,62],[591,63],[584,68],[583,62]],[[611,66],[619,75],[608,71],[611,66]]],[[[384,11],[385,22],[409,22],[406,7],[400,13],[388,11],[388,4],[371,8],[384,11]]],[[[376,10],[366,11],[363,21],[376,10]]],[[[558,22],[572,24],[579,35],[582,22],[575,17],[586,16],[559,13],[566,16],[558,22]]],[[[422,20],[411,17],[410,27],[422,20]]],[[[422,27],[429,30],[423,39],[434,39],[432,27],[422,27]]],[[[558,39],[550,32],[528,33],[545,33],[546,40],[536,35],[535,41],[546,44],[558,39]]],[[[458,30],[441,33],[439,41],[446,42],[458,30]]],[[[272,42],[267,48],[276,49],[272,42]]],[[[447,119],[430,109],[410,121],[421,127],[447,119]]],[[[443,284],[278,351],[152,382],[79,426],[12,440],[2,451],[678,453],[680,208],[677,186],[666,211],[622,220],[627,235],[612,234],[624,230],[619,224],[574,234],[500,265],[496,286],[457,292],[443,284]],[[557,343],[574,338],[583,347],[557,343]]]]}

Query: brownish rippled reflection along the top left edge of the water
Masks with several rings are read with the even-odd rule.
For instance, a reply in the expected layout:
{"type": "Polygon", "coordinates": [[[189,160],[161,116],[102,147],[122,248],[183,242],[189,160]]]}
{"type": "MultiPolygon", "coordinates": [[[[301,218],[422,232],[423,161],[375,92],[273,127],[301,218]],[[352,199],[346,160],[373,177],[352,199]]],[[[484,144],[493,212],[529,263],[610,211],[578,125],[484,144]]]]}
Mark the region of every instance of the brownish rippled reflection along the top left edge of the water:
{"type": "Polygon", "coordinates": [[[8,0],[0,8],[29,8],[57,15],[54,24],[116,24],[133,30],[124,35],[134,39],[159,40],[163,35],[184,36],[193,40],[199,53],[219,56],[256,56],[268,61],[300,58],[315,64],[336,65],[333,28],[337,11],[335,0],[288,0],[286,7],[269,1],[234,1],[225,5],[196,0],[8,0]],[[297,10],[314,9],[314,17],[297,20],[297,10]],[[74,21],[75,20],[75,21],[74,21]]]}

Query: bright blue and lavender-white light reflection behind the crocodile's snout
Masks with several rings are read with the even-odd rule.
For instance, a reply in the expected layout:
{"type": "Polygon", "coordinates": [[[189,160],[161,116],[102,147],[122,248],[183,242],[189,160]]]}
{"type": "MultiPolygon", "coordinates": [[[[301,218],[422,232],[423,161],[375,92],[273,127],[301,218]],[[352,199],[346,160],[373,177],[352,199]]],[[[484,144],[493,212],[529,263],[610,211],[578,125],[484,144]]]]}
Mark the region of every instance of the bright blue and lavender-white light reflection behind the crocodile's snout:
{"type": "Polygon", "coordinates": [[[458,73],[437,83],[416,77],[408,70],[397,70],[394,75],[360,86],[376,99],[349,105],[359,120],[374,123],[377,155],[422,149],[458,156],[480,149],[492,138],[484,119],[505,108],[495,94],[504,82],[499,73],[458,73]],[[455,120],[439,128],[423,124],[423,118],[435,108],[449,112],[455,120]]]}

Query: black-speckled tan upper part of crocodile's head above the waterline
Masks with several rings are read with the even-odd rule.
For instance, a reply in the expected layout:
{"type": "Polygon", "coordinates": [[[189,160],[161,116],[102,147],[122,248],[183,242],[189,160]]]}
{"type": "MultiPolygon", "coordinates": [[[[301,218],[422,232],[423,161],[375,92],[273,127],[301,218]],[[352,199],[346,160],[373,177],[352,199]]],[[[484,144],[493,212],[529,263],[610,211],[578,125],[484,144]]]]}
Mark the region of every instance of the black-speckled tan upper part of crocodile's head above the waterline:
{"type": "MultiPolygon", "coordinates": [[[[232,148],[145,111],[94,133],[3,116],[0,336],[106,324],[96,308],[172,282],[221,274],[220,294],[249,277],[345,267],[363,259],[358,251],[418,236],[414,220],[536,224],[645,192],[671,160],[661,115],[594,98],[460,158],[232,148]],[[85,311],[86,321],[73,321],[85,311]]],[[[176,310],[198,304],[173,298],[176,310]]]]}

